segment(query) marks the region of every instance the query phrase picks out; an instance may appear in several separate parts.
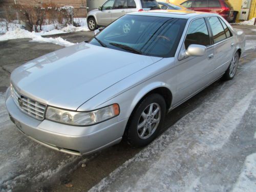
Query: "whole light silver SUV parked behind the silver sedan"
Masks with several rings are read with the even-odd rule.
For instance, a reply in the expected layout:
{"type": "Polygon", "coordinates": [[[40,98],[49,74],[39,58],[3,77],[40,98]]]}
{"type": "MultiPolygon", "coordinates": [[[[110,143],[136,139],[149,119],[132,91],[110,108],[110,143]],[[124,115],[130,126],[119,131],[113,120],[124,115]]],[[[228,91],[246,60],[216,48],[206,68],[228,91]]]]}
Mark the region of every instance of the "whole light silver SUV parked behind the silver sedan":
{"type": "Polygon", "coordinates": [[[91,31],[107,26],[126,13],[160,9],[156,0],[108,0],[99,9],[88,13],[87,23],[91,31]]]}

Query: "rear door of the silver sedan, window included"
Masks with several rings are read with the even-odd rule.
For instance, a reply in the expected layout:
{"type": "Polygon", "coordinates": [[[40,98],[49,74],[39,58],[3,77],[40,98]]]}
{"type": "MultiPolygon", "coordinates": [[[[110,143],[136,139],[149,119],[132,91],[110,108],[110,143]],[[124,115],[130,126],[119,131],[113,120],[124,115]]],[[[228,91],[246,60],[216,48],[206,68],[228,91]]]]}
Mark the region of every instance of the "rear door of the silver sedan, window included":
{"type": "Polygon", "coordinates": [[[214,74],[220,76],[233,57],[234,39],[227,25],[218,16],[207,17],[214,41],[214,74]]]}

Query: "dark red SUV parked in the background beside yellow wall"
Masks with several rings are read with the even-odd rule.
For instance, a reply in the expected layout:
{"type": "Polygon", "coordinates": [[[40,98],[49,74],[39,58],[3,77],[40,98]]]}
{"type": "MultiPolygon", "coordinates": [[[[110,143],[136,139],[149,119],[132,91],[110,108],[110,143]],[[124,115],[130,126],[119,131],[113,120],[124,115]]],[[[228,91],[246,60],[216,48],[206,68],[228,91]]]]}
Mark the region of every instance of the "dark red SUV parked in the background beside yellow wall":
{"type": "Polygon", "coordinates": [[[233,7],[228,0],[188,0],[180,5],[195,11],[217,13],[228,22],[233,20],[233,7]]]}

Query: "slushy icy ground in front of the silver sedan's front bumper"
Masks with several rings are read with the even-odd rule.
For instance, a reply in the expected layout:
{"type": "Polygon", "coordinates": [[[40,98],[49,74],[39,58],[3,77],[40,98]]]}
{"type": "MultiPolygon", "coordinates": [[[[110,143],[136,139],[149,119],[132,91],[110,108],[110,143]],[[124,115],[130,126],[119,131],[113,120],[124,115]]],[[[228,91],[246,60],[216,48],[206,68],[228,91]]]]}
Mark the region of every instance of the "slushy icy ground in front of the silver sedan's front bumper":
{"type": "Polygon", "coordinates": [[[0,92],[0,191],[36,191],[81,164],[81,157],[53,151],[20,133],[0,92]]]}

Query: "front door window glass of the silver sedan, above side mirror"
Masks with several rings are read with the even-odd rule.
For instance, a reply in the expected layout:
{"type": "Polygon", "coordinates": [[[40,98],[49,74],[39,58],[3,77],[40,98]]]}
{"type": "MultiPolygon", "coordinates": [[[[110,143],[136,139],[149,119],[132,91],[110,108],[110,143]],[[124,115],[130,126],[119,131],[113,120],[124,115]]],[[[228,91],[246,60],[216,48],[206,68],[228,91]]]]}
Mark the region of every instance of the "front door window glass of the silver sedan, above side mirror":
{"type": "Polygon", "coordinates": [[[210,36],[204,18],[191,22],[185,38],[185,48],[187,49],[191,44],[210,45],[210,36]]]}

